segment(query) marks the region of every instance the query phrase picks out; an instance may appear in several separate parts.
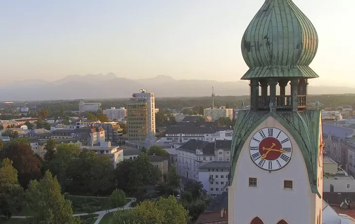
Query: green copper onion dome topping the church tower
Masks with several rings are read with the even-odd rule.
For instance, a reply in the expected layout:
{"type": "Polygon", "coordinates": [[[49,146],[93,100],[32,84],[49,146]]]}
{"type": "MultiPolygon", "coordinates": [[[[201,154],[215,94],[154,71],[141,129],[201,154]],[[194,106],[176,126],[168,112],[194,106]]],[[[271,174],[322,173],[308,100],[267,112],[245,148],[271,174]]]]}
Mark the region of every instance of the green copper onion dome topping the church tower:
{"type": "Polygon", "coordinates": [[[308,67],[317,48],[316,29],[292,0],[266,0],[243,35],[241,79],[319,77],[308,67]]]}

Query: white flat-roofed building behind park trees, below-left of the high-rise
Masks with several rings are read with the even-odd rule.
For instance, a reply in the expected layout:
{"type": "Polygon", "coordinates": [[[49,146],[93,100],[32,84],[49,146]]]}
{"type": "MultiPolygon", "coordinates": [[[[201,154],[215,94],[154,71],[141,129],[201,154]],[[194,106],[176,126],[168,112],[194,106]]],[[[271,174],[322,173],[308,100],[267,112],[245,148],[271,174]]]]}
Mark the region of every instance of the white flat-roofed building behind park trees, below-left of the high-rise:
{"type": "Polygon", "coordinates": [[[123,149],[119,146],[111,146],[111,142],[100,142],[100,146],[82,146],[81,149],[89,149],[100,156],[108,156],[114,168],[124,160],[123,149]]]}

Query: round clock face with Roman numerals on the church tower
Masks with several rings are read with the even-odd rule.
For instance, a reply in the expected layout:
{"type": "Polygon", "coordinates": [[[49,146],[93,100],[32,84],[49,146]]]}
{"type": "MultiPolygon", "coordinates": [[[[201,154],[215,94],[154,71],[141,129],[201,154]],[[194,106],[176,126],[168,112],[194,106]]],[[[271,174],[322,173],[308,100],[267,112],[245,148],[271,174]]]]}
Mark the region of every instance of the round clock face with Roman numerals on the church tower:
{"type": "Polygon", "coordinates": [[[292,144],[284,131],[267,127],[256,131],[249,144],[250,158],[259,168],[273,171],[291,159],[292,144]]]}

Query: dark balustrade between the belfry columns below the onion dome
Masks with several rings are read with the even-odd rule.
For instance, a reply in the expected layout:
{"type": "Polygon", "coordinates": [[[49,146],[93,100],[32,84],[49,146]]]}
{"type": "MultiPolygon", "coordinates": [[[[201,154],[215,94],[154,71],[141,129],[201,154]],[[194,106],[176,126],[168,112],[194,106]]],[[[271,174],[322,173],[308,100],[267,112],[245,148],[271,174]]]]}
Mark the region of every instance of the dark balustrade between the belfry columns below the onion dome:
{"type": "MultiPolygon", "coordinates": [[[[292,96],[291,95],[277,95],[276,97],[276,108],[292,108],[292,96]]],[[[269,109],[271,96],[257,96],[256,105],[258,109],[269,109]]],[[[307,107],[307,96],[298,95],[298,108],[307,107]]]]}

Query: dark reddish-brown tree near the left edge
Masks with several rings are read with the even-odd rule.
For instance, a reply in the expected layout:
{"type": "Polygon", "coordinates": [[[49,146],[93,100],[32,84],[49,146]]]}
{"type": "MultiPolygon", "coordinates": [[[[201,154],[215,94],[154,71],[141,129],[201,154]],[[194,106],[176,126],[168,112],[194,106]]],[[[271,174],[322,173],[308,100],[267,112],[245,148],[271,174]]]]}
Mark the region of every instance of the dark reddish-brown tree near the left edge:
{"type": "Polygon", "coordinates": [[[19,184],[27,188],[31,180],[41,178],[41,162],[26,139],[15,139],[5,144],[0,151],[0,159],[9,158],[13,167],[18,171],[19,184]]]}

